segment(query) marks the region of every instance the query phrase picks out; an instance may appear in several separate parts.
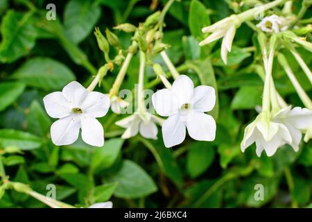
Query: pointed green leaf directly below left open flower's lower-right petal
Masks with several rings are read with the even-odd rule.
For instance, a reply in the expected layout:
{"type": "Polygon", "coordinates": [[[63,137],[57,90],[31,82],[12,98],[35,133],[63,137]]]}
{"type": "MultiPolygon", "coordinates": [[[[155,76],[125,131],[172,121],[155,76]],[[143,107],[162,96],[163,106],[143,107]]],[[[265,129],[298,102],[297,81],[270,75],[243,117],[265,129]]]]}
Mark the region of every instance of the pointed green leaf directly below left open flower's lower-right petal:
{"type": "Polygon", "coordinates": [[[96,148],[90,170],[96,172],[101,169],[110,168],[117,159],[121,151],[121,146],[123,146],[123,139],[115,138],[107,140],[103,147],[96,148]]]}

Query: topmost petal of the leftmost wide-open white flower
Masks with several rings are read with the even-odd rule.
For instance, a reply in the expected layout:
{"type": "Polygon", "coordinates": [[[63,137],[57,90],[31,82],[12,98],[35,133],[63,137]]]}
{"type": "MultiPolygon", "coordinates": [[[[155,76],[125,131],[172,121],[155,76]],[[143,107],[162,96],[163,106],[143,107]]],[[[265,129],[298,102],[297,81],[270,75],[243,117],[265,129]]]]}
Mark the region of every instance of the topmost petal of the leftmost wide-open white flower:
{"type": "Polygon", "coordinates": [[[89,92],[83,85],[73,81],[67,85],[62,90],[63,96],[71,103],[72,108],[80,107],[80,104],[83,102],[85,97],[89,92]]]}

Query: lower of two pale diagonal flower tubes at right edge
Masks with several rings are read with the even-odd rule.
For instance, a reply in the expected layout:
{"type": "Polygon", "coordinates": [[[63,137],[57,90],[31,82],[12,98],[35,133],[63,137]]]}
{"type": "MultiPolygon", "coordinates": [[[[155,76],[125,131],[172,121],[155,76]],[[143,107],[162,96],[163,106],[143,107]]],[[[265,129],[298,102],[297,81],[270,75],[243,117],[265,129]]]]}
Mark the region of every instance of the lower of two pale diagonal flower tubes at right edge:
{"type": "Polygon", "coordinates": [[[302,103],[306,106],[306,108],[312,110],[312,101],[309,98],[309,96],[306,94],[300,83],[298,82],[297,78],[295,77],[295,74],[293,74],[293,70],[291,70],[291,67],[288,65],[288,62],[285,58],[285,56],[281,53],[277,56],[277,59],[279,60],[279,63],[281,64],[281,67],[284,68],[286,71],[286,74],[291,80],[291,83],[293,84],[293,87],[295,88],[298,96],[300,97],[302,103]]]}

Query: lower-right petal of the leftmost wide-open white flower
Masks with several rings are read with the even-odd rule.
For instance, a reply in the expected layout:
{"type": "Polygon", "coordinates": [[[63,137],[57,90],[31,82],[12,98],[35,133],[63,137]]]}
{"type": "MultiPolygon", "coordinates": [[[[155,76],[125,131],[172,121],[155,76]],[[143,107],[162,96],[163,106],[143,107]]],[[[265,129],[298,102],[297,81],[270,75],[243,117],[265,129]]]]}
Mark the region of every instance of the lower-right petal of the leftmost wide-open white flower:
{"type": "Polygon", "coordinates": [[[81,117],[81,137],[86,144],[91,146],[104,145],[104,130],[101,123],[94,117],[82,115],[81,117]]]}

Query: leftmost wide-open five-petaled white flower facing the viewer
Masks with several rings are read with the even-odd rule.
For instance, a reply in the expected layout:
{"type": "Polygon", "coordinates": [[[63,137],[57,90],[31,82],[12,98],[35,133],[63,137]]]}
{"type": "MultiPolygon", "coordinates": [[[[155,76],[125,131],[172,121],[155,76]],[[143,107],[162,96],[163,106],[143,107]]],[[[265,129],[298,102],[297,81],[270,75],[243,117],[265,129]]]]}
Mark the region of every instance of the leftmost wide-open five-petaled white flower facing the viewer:
{"type": "Polygon", "coordinates": [[[97,117],[110,108],[110,99],[100,92],[89,92],[73,81],[62,92],[44,96],[44,107],[52,118],[59,118],[51,126],[51,139],[57,146],[73,144],[81,128],[83,141],[92,146],[103,146],[104,132],[97,117]]]}

